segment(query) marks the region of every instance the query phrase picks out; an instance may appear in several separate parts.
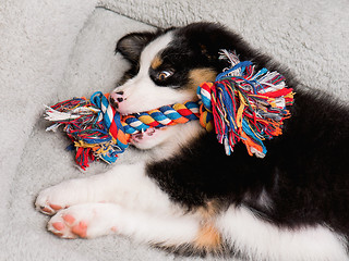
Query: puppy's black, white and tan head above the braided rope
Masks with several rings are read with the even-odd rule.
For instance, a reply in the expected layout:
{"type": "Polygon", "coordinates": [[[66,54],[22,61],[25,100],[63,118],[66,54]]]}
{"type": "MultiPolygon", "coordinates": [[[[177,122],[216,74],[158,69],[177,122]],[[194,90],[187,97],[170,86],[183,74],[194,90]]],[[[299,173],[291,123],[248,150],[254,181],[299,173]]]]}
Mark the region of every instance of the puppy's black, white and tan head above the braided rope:
{"type": "Polygon", "coordinates": [[[197,100],[197,86],[215,80],[227,66],[220,49],[231,49],[231,35],[222,27],[197,23],[156,33],[134,33],[117,45],[131,63],[110,101],[121,114],[197,100]]]}

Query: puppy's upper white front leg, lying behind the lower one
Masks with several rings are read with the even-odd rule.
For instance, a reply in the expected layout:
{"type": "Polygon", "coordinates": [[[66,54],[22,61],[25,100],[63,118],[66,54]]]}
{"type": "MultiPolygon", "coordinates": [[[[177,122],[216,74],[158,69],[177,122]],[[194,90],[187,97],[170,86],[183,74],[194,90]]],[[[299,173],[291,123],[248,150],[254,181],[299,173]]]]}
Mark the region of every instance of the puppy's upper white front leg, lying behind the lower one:
{"type": "Polygon", "coordinates": [[[104,174],[62,182],[44,189],[35,204],[37,210],[55,214],[71,206],[97,202],[156,211],[170,208],[167,195],[145,175],[145,163],[116,165],[104,174]]]}

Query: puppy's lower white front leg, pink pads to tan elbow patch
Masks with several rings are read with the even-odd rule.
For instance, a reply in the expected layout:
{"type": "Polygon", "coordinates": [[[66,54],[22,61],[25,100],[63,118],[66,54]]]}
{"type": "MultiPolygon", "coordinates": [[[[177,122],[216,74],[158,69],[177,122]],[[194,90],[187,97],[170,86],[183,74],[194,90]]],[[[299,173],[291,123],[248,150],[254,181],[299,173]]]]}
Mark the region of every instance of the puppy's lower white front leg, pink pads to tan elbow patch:
{"type": "Polygon", "coordinates": [[[214,223],[202,223],[197,213],[165,213],[123,208],[115,203],[84,203],[58,211],[48,229],[62,238],[95,238],[119,234],[140,243],[179,250],[221,250],[214,223]]]}

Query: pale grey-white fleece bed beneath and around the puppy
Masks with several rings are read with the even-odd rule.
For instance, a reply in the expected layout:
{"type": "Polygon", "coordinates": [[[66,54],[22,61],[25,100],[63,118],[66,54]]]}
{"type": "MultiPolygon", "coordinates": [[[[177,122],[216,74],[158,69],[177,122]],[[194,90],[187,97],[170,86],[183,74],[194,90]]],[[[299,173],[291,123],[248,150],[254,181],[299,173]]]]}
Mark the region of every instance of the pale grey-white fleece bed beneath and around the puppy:
{"type": "Polygon", "coordinates": [[[113,53],[124,34],[203,20],[228,25],[304,85],[347,102],[348,13],[346,0],[2,0],[0,260],[201,260],[120,236],[63,240],[46,232],[48,217],[34,209],[37,194],[109,166],[93,163],[85,173],[75,167],[64,135],[45,132],[44,104],[110,91],[128,67],[113,53]]]}

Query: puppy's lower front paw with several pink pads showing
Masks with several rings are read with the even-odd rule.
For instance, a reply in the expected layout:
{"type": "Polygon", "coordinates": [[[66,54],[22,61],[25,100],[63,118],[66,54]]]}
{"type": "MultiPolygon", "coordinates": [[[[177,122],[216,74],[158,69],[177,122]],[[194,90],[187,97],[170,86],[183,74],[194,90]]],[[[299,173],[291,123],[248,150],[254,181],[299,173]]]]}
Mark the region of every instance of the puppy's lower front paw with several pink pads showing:
{"type": "Polygon", "coordinates": [[[61,238],[94,238],[117,232],[112,220],[105,215],[105,206],[77,204],[60,210],[48,222],[48,231],[61,238]]]}

